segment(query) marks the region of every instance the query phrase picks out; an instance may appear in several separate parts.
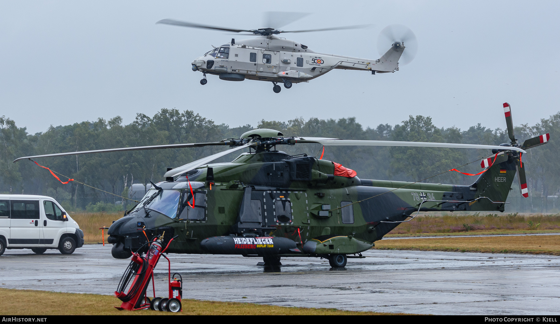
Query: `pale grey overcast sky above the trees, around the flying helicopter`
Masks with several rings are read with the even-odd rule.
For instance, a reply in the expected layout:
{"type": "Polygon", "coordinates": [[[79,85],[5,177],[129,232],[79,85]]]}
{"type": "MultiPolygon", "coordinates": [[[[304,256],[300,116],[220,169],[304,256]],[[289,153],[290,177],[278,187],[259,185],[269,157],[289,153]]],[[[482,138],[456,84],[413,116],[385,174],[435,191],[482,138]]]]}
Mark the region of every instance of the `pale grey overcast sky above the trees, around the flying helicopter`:
{"type": "Polygon", "coordinates": [[[437,126],[505,128],[557,113],[559,1],[0,1],[0,116],[30,133],[98,117],[190,109],[231,127],[260,119],[356,117],[363,126],[428,115],[437,126]],[[270,82],[230,82],[191,70],[235,36],[156,25],[174,18],[256,29],[264,11],[309,12],[282,29],[374,24],[286,34],[315,52],[379,58],[390,24],[416,33],[418,54],[395,73],[334,70],[279,94],[270,82]]]}

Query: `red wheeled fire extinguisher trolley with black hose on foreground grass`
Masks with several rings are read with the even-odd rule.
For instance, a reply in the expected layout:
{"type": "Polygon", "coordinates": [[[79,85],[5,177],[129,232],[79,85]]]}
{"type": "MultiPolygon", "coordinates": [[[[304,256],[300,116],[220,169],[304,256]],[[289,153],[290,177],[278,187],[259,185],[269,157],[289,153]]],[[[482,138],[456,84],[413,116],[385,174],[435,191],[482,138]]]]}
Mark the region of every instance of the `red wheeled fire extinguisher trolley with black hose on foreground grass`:
{"type": "MultiPolygon", "coordinates": [[[[180,312],[181,307],[181,296],[183,295],[183,278],[177,272],[173,274],[174,278],[171,281],[171,261],[164,252],[169,247],[169,244],[176,239],[179,235],[171,238],[167,246],[163,248],[164,235],[156,237],[150,242],[150,248],[146,256],[142,256],[139,253],[133,253],[127,270],[124,271],[123,277],[120,279],[119,286],[115,291],[115,297],[123,301],[120,307],[116,307],[119,311],[127,309],[128,311],[136,311],[137,309],[152,309],[154,311],[164,311],[164,312],[180,312]],[[160,298],[156,296],[156,288],[153,283],[153,269],[156,267],[157,262],[160,261],[160,257],[163,256],[167,259],[168,265],[168,283],[169,283],[169,298],[160,298]],[[175,275],[178,275],[180,279],[177,279],[175,275]],[[127,293],[124,290],[127,288],[130,280],[133,279],[132,284],[127,293]],[[150,284],[150,279],[152,280],[153,296],[154,298],[150,300],[146,296],[146,290],[150,284]]],[[[142,249],[142,247],[140,248],[142,249]]],[[[140,250],[139,249],[139,250],[140,250]]]]}

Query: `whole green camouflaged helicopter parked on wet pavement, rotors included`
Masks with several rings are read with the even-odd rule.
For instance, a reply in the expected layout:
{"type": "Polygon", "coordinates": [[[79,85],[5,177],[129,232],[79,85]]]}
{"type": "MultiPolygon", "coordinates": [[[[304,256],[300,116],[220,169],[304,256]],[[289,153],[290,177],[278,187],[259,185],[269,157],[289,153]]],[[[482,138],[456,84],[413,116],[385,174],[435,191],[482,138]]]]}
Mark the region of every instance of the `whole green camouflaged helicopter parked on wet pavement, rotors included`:
{"type": "MultiPolygon", "coordinates": [[[[218,154],[169,169],[132,210],[110,226],[115,258],[128,258],[148,238],[179,235],[171,253],[241,254],[279,265],[281,257],[328,258],[332,267],[374,246],[418,211],[503,211],[515,174],[528,196],[521,154],[548,142],[548,134],[517,144],[510,106],[504,104],[510,144],[470,145],[428,142],[354,141],[285,137],[254,129],[221,142],[125,147],[27,156],[40,158],[130,150],[223,145],[218,154]],[[423,146],[491,149],[486,171],[470,186],[366,180],[356,172],[314,156],[287,155],[281,145],[423,146]],[[231,163],[212,161],[250,148],[231,163]]],[[[17,159],[17,160],[20,160],[17,159]]],[[[17,161],[16,160],[16,161],[17,161]]],[[[142,252],[142,251],[141,251],[142,252]]]]}

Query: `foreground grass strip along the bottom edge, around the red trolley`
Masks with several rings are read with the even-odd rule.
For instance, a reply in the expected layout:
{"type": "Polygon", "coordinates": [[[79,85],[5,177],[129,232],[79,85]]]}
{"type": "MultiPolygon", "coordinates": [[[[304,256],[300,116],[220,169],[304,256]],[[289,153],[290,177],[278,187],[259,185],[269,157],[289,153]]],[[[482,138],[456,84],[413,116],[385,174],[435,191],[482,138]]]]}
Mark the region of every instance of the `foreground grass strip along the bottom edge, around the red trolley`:
{"type": "Polygon", "coordinates": [[[299,308],[251,303],[183,299],[183,312],[118,311],[120,300],[95,294],[54,293],[40,290],[0,289],[0,315],[408,315],[340,311],[334,308],[299,308]]]}

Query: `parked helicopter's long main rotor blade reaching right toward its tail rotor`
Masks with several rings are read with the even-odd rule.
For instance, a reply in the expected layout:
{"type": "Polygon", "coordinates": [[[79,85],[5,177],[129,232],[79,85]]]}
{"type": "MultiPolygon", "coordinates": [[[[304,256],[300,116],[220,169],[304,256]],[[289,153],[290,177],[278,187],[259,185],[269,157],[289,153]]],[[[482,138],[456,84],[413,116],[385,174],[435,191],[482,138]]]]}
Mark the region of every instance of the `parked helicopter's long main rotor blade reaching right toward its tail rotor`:
{"type": "Polygon", "coordinates": [[[450,147],[455,149],[498,149],[526,153],[519,147],[482,144],[434,143],[434,142],[401,142],[401,141],[360,141],[360,140],[296,140],[296,143],[318,143],[322,145],[367,145],[367,146],[417,146],[417,147],[450,147]]]}

